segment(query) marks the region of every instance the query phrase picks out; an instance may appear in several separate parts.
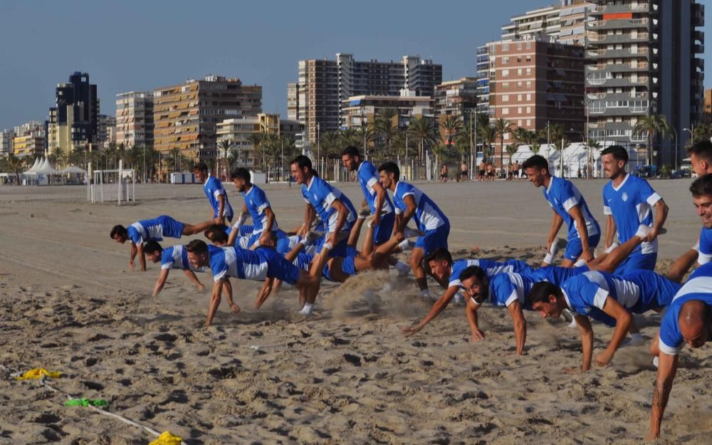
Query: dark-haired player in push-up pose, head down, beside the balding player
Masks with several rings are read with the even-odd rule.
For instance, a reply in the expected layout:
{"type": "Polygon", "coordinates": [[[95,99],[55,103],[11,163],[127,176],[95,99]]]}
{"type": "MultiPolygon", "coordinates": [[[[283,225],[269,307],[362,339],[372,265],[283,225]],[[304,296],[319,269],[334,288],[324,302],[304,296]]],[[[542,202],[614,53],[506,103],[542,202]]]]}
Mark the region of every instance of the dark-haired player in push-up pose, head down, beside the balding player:
{"type": "Polygon", "coordinates": [[[608,365],[632,323],[631,313],[665,308],[680,287],[679,283],[653,271],[625,275],[596,271],[570,278],[560,287],[545,281],[536,283],[528,302],[543,317],[559,317],[564,309],[572,312],[583,347],[580,369],[587,371],[593,353],[593,330],[589,318],[615,326],[608,347],[596,357],[598,365],[608,365]]]}

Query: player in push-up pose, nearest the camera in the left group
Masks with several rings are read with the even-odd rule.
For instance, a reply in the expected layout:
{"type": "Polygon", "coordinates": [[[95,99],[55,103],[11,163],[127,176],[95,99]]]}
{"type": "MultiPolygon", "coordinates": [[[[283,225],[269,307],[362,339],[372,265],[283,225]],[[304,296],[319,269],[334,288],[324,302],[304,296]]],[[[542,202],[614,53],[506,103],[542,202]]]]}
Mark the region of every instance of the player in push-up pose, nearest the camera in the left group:
{"type": "Polygon", "coordinates": [[[206,326],[210,325],[215,316],[223,286],[229,277],[253,281],[277,278],[295,286],[299,290],[300,298],[312,304],[319,291],[319,278],[300,271],[272,248],[248,251],[242,248],[208,246],[204,241],[195,239],[186,246],[186,250],[188,260],[194,267],[210,266],[213,272],[213,293],[205,319],[206,326]]]}

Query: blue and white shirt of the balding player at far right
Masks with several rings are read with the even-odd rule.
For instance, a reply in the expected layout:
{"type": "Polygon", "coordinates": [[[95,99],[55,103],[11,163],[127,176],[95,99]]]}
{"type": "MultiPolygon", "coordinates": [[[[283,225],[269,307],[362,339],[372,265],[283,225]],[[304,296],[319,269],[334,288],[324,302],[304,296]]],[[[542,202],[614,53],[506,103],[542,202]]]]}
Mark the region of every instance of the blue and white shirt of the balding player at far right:
{"type": "Polygon", "coordinates": [[[680,310],[690,300],[702,301],[712,307],[712,263],[696,268],[685,286],[682,286],[670,304],[660,325],[660,350],[677,355],[685,340],[680,331],[680,310]]]}

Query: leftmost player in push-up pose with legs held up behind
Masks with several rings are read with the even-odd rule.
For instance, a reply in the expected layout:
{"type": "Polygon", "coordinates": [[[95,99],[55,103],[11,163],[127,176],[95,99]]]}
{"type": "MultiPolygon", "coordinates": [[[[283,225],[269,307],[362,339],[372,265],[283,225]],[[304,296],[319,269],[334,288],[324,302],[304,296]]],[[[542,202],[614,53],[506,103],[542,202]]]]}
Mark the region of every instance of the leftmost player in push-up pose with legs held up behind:
{"type": "Polygon", "coordinates": [[[141,271],[146,271],[146,257],[143,253],[143,244],[146,241],[163,241],[163,237],[180,238],[198,234],[215,224],[215,221],[205,221],[200,224],[185,224],[172,219],[170,216],[162,215],[154,219],[142,219],[128,226],[128,228],[117,225],[113,226],[109,236],[117,243],[124,244],[131,240],[131,253],[129,267],[135,267],[135,258],[139,256],[141,271]]]}

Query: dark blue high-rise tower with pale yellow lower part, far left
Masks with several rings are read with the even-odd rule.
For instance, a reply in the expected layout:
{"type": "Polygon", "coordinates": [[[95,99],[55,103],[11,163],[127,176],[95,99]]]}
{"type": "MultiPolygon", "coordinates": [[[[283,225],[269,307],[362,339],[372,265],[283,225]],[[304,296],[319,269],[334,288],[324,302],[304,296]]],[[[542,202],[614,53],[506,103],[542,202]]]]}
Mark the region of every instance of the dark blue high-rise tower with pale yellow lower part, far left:
{"type": "Polygon", "coordinates": [[[50,154],[61,149],[65,154],[97,142],[99,99],[96,85],[87,73],[75,72],[68,83],[56,90],[56,106],[50,108],[47,122],[50,154]]]}

